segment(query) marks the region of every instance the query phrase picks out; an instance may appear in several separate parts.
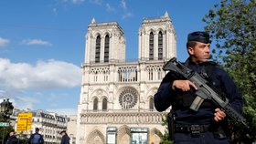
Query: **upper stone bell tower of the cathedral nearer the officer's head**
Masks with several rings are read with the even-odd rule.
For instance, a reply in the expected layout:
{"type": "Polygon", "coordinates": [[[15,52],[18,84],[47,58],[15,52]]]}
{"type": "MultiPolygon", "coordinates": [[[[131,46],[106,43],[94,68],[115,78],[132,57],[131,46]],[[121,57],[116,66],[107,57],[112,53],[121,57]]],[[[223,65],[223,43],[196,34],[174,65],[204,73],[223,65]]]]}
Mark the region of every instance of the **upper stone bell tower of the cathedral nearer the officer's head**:
{"type": "Polygon", "coordinates": [[[168,60],[176,56],[176,32],[168,13],[144,18],[139,30],[139,59],[168,60]]]}

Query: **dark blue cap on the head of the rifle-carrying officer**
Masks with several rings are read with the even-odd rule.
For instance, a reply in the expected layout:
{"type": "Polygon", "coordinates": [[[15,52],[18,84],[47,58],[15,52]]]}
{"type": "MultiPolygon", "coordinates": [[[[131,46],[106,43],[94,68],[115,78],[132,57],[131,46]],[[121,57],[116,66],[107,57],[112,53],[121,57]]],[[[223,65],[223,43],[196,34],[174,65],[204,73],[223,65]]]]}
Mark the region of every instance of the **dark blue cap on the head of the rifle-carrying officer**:
{"type": "Polygon", "coordinates": [[[197,42],[208,44],[209,43],[209,35],[207,32],[201,32],[201,31],[193,32],[193,33],[188,34],[187,42],[188,41],[197,41],[197,42]]]}

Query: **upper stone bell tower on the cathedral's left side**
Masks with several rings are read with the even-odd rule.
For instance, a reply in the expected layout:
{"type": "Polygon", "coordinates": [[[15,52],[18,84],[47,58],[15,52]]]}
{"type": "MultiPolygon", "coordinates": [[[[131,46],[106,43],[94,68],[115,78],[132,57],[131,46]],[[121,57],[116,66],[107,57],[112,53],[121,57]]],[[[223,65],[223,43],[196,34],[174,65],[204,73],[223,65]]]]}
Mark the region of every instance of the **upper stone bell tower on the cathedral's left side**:
{"type": "Polygon", "coordinates": [[[116,22],[96,24],[93,18],[85,38],[85,63],[124,61],[125,38],[116,22]]]}

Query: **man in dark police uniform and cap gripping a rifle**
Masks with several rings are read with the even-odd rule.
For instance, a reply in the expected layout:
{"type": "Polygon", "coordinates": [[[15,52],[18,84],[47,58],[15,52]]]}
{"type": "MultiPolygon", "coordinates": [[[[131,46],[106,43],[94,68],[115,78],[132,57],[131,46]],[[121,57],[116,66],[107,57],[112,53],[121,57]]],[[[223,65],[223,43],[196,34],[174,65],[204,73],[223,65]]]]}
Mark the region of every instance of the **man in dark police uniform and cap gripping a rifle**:
{"type": "MultiPolygon", "coordinates": [[[[241,112],[242,98],[233,80],[216,63],[208,61],[210,57],[209,35],[197,31],[187,36],[187,52],[189,57],[184,65],[208,80],[215,89],[229,98],[229,103],[241,112]]],[[[205,100],[201,107],[194,111],[190,109],[197,87],[192,81],[180,74],[170,71],[162,80],[155,94],[155,108],[164,111],[172,106],[174,111],[174,143],[184,144],[228,144],[223,127],[227,127],[226,113],[210,100],[205,100]]],[[[223,99],[225,99],[223,98],[223,99]]],[[[229,128],[225,128],[229,129],[229,128]]]]}

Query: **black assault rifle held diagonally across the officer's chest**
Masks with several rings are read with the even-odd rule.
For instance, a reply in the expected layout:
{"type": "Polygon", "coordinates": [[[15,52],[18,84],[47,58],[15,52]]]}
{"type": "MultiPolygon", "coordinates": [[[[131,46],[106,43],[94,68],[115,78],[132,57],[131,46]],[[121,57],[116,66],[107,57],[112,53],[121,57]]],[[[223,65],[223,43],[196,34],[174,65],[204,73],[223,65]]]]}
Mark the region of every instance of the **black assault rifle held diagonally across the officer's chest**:
{"type": "Polygon", "coordinates": [[[240,113],[238,113],[234,108],[229,104],[229,99],[222,99],[221,95],[214,90],[212,87],[208,86],[208,81],[201,77],[197,72],[185,67],[180,62],[176,61],[176,57],[170,59],[165,66],[164,70],[173,70],[181,74],[183,77],[186,77],[187,80],[192,81],[197,86],[197,91],[195,92],[196,98],[190,106],[190,109],[197,111],[200,108],[202,102],[205,99],[210,99],[218,107],[225,111],[225,113],[238,123],[242,123],[246,128],[249,128],[247,125],[246,119],[243,118],[240,113]]]}

